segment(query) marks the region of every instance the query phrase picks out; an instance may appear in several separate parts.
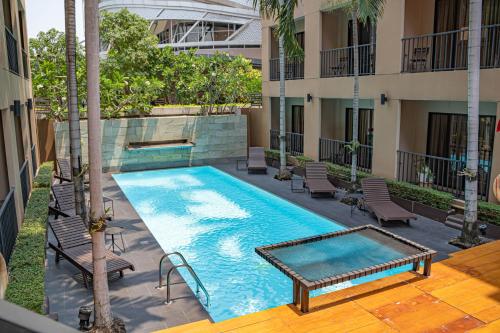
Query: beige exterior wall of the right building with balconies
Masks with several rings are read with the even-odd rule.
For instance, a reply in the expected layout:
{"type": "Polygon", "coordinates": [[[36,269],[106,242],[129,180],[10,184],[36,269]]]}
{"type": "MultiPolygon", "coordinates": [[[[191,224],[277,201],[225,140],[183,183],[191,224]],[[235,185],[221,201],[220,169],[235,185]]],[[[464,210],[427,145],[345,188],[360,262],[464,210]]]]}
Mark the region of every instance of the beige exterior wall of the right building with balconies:
{"type": "MultiPolygon", "coordinates": [[[[305,98],[305,154],[317,157],[317,140],[323,136],[344,139],[345,105],[352,99],[351,77],[321,78],[321,51],[347,46],[346,13],[325,12],[328,0],[301,2],[295,17],[304,19],[304,79],[286,81],[286,96],[305,98]]],[[[467,71],[401,73],[402,38],[432,33],[435,0],[388,0],[384,15],[377,24],[375,75],[360,78],[360,97],[374,108],[373,173],[396,177],[397,151],[425,152],[427,122],[430,112],[466,113],[467,71]],[[380,95],[388,96],[386,105],[380,95]]],[[[279,108],[279,82],[269,80],[269,58],[273,40],[270,30],[274,22],[263,20],[263,84],[264,105],[279,108]],[[267,50],[267,51],[266,51],[267,50]]],[[[274,41],[275,43],[275,41],[274,41]]],[[[481,70],[481,114],[495,114],[500,103],[500,69],[481,70]]],[[[277,128],[274,111],[271,127],[277,128]]],[[[493,172],[500,172],[499,134],[495,137],[493,172]]],[[[267,142],[266,146],[269,145],[267,142]]],[[[493,178],[493,177],[492,177],[493,178]]],[[[491,196],[490,196],[491,197],[491,196]]]]}

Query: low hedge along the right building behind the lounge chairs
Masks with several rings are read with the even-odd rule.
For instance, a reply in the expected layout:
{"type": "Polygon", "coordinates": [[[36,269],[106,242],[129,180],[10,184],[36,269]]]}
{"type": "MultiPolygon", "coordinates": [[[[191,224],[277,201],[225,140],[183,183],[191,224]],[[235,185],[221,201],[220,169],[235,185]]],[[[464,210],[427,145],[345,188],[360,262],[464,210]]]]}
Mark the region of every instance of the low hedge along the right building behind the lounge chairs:
{"type": "MultiPolygon", "coordinates": [[[[267,150],[266,156],[274,159],[279,159],[279,151],[267,150]]],[[[305,164],[304,161],[312,161],[312,159],[305,156],[296,156],[295,158],[299,161],[299,166],[303,166],[303,164],[305,164]],[[301,162],[303,162],[303,164],[301,164],[301,162]]],[[[351,181],[350,168],[328,162],[326,164],[328,168],[328,173],[331,176],[346,182],[351,181]]],[[[373,177],[373,175],[362,171],[357,172],[358,183],[363,178],[367,177],[373,177]]],[[[432,188],[421,187],[418,185],[391,179],[386,179],[386,182],[387,182],[387,187],[389,188],[389,193],[392,196],[401,199],[415,201],[437,209],[442,209],[442,210],[450,209],[451,204],[455,199],[453,195],[450,193],[437,191],[432,188]]],[[[500,225],[500,205],[490,202],[479,201],[478,220],[480,220],[481,222],[489,222],[496,225],[500,225]]]]}

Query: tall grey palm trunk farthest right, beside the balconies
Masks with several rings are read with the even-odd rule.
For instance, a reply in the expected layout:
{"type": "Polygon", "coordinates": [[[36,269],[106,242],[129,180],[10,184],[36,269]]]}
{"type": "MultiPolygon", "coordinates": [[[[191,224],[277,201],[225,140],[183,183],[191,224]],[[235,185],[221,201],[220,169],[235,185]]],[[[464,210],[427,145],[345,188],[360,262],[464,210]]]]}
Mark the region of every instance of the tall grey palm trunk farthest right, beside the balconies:
{"type": "Polygon", "coordinates": [[[465,178],[465,219],[460,236],[464,246],[480,242],[477,228],[477,169],[479,138],[479,72],[481,59],[482,1],[469,2],[467,169],[465,178]]]}

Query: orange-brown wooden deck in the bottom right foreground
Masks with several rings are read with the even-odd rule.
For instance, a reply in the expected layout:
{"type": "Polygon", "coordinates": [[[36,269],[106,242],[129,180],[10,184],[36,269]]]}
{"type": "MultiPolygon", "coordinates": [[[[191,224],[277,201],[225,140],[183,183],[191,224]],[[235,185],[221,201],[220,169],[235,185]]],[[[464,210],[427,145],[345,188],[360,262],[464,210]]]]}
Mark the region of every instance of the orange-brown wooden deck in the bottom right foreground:
{"type": "Polygon", "coordinates": [[[434,264],[430,278],[398,274],[313,298],[311,307],[305,315],[284,305],[159,332],[500,332],[500,241],[434,264]]]}

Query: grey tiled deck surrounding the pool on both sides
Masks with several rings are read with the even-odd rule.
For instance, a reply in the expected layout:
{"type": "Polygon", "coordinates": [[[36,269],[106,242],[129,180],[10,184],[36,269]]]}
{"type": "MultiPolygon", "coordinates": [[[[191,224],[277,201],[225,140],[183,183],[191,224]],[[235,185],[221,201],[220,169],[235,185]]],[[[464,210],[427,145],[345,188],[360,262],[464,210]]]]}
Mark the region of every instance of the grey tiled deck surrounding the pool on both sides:
{"type": "MultiPolygon", "coordinates": [[[[335,199],[321,199],[310,198],[307,193],[292,193],[289,182],[272,179],[275,173],[272,168],[269,168],[267,175],[248,175],[245,171],[236,171],[235,164],[215,167],[342,223],[346,227],[376,225],[376,220],[369,214],[355,211],[351,216],[350,207],[339,201],[342,194],[337,195],[335,199]]],[[[111,281],[109,284],[114,315],[125,321],[129,332],[152,332],[200,320],[209,320],[209,315],[185,284],[173,286],[172,294],[176,298],[173,304],[163,304],[166,292],[164,289],[156,289],[158,263],[163,251],[110,174],[103,175],[103,187],[104,195],[114,200],[115,220],[112,223],[128,229],[128,232],[123,235],[127,251],[121,255],[136,267],[136,271],[125,271],[123,279],[111,281]]],[[[423,217],[412,222],[411,227],[404,223],[394,223],[386,229],[438,251],[436,260],[446,259],[450,253],[458,250],[447,243],[458,234],[458,231],[423,217]]],[[[72,327],[78,327],[78,308],[92,304],[92,291],[82,286],[77,273],[78,271],[66,261],[61,261],[56,265],[54,252],[47,250],[46,294],[49,297],[50,312],[58,313],[59,321],[72,327]]],[[[179,282],[182,281],[178,275],[177,279],[179,282]]]]}

